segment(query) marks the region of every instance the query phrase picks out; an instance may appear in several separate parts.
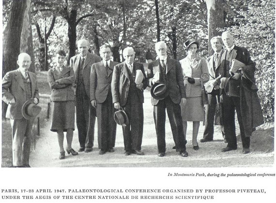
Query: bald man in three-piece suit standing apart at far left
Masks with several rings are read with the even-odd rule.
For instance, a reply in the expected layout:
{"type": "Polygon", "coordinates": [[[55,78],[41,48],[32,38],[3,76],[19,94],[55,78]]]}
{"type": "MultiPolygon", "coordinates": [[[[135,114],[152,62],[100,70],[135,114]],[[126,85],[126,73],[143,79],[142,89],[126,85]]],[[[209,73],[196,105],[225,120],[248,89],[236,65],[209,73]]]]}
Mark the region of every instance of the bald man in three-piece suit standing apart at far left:
{"type": "Polygon", "coordinates": [[[34,119],[22,115],[25,101],[39,102],[36,75],[29,70],[31,57],[27,53],[18,55],[19,68],[7,72],[2,79],[2,100],[8,104],[6,118],[10,118],[13,135],[13,166],[30,167],[31,128],[34,119]]]}

